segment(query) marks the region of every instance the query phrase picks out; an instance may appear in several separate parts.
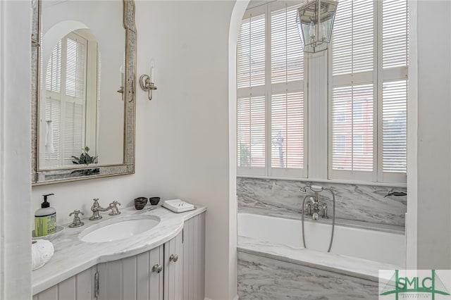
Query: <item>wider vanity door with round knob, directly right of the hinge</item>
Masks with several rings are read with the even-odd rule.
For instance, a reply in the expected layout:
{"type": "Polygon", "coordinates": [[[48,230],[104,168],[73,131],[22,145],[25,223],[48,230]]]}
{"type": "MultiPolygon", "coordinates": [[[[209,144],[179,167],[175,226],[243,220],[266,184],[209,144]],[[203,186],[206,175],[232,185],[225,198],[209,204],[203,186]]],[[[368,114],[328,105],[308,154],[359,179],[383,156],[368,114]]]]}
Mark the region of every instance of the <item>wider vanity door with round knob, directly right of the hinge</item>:
{"type": "Polygon", "coordinates": [[[118,261],[99,263],[97,299],[163,299],[163,271],[153,272],[154,265],[163,265],[163,246],[118,261]]]}

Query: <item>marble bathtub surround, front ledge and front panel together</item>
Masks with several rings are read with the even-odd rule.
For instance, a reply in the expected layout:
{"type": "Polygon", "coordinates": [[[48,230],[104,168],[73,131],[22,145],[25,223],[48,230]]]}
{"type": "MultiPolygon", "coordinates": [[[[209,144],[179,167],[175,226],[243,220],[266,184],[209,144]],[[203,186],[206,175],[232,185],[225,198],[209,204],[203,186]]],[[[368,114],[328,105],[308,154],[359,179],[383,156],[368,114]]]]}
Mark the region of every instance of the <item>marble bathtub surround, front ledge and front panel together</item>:
{"type": "Polygon", "coordinates": [[[238,237],[240,299],[378,299],[378,270],[398,265],[238,237]]]}

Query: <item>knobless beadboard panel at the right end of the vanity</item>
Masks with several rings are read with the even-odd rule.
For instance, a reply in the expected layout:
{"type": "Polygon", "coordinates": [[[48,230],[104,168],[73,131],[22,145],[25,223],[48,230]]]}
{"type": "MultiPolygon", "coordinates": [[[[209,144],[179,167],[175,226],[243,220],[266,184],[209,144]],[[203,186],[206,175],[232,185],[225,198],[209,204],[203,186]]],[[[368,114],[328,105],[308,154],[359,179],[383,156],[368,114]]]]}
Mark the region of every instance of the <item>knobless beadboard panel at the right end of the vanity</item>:
{"type": "Polygon", "coordinates": [[[203,300],[205,289],[205,213],[185,221],[183,226],[184,300],[203,300]]]}

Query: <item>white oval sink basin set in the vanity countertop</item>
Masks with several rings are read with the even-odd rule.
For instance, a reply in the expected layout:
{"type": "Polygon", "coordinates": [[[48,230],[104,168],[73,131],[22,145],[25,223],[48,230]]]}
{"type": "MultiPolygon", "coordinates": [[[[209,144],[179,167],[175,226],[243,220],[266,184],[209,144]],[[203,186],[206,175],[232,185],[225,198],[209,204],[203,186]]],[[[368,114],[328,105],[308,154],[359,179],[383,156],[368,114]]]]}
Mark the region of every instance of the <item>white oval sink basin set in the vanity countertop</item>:
{"type": "Polygon", "coordinates": [[[155,215],[128,215],[112,218],[83,230],[78,238],[82,242],[112,242],[151,230],[160,223],[155,215]]]}

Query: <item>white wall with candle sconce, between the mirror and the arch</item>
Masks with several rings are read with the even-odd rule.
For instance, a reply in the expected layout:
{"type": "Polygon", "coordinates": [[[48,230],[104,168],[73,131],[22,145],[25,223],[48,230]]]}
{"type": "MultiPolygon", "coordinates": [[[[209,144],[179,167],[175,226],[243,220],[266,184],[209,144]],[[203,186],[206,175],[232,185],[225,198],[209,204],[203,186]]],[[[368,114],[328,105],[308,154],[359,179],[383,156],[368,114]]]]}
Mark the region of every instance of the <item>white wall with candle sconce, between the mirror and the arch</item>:
{"type": "Polygon", "coordinates": [[[149,73],[154,58],[158,89],[151,102],[137,87],[135,175],[32,189],[33,212],[42,194],[55,194],[49,201],[58,224],[70,222],[74,209],[89,213],[97,197],[103,206],[113,200],[132,205],[137,196],[183,198],[208,206],[210,299],[233,299],[237,290],[228,161],[228,30],[234,4],[136,1],[137,77],[149,73]]]}

